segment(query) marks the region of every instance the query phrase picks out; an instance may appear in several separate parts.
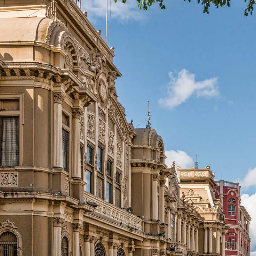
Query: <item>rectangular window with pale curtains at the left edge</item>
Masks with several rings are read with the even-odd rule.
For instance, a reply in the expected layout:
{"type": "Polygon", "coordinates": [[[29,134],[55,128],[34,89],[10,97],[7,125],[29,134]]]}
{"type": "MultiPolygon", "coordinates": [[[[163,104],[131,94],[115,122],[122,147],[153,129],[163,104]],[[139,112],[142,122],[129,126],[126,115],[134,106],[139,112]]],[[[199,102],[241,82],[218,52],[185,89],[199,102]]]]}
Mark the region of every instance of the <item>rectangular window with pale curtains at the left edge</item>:
{"type": "Polygon", "coordinates": [[[0,117],[0,166],[19,165],[19,117],[0,117]]]}

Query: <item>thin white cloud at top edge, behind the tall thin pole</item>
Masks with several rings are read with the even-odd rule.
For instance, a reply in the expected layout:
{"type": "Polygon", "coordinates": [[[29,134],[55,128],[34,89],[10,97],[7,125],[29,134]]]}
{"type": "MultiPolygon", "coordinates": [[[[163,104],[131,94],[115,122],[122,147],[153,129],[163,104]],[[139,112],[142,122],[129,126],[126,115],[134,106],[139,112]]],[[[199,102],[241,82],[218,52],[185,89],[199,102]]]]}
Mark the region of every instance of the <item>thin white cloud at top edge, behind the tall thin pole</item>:
{"type": "MultiPolygon", "coordinates": [[[[82,4],[82,10],[88,12],[88,17],[106,17],[106,3],[107,0],[86,0],[82,4]]],[[[129,0],[125,4],[122,0],[108,0],[108,19],[119,20],[141,20],[145,17],[144,12],[140,12],[138,4],[135,0],[129,0]]],[[[91,19],[90,19],[91,20],[91,19]]]]}

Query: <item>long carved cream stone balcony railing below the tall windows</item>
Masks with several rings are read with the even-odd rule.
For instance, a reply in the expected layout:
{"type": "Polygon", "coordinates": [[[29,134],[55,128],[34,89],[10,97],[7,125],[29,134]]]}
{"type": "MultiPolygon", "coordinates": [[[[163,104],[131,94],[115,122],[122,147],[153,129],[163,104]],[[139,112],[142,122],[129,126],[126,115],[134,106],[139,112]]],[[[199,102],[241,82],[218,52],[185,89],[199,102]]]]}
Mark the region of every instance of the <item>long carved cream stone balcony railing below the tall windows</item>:
{"type": "Polygon", "coordinates": [[[136,215],[126,212],[125,210],[120,209],[119,207],[116,207],[113,204],[109,204],[108,202],[103,201],[102,199],[96,196],[93,196],[92,194],[87,193],[85,191],[84,191],[84,201],[94,202],[98,204],[98,206],[95,208],[95,212],[103,214],[120,223],[123,222],[123,224],[126,224],[132,229],[142,230],[142,220],[136,215]]]}

